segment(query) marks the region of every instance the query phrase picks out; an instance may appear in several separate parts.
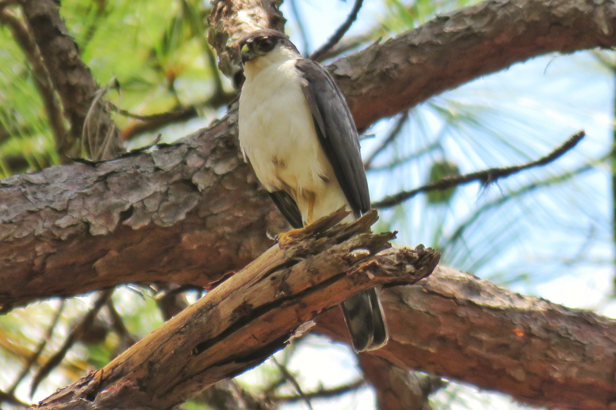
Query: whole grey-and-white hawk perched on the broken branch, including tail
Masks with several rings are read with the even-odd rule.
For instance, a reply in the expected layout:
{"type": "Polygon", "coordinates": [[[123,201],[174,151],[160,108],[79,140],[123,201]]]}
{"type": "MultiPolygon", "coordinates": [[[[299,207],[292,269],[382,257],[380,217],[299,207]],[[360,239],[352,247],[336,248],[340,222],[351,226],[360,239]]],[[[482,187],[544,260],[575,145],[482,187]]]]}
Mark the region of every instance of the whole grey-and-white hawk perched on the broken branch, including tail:
{"type": "MultiPolygon", "coordinates": [[[[261,185],[294,228],[342,206],[352,211],[346,222],[359,218],[370,209],[370,193],[357,129],[333,78],[278,31],[249,33],[240,50],[240,147],[261,185]]],[[[386,344],[376,289],[341,307],[355,352],[386,344]]]]}

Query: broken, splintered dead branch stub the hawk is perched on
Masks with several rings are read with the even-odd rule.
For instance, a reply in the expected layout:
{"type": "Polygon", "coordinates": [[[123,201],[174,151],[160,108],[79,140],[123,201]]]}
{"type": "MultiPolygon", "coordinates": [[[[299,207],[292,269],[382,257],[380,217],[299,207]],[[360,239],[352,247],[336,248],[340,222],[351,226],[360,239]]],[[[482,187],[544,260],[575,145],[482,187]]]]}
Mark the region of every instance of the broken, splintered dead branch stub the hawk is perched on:
{"type": "Polygon", "coordinates": [[[100,371],[41,403],[94,409],[131,403],[171,408],[218,380],[266,360],[301,336],[319,313],[375,285],[412,284],[428,276],[439,252],[379,255],[394,233],[371,233],[370,211],[349,224],[344,210],[318,220],[224,281],[100,371]],[[306,325],[306,323],[309,323],[306,325]]]}

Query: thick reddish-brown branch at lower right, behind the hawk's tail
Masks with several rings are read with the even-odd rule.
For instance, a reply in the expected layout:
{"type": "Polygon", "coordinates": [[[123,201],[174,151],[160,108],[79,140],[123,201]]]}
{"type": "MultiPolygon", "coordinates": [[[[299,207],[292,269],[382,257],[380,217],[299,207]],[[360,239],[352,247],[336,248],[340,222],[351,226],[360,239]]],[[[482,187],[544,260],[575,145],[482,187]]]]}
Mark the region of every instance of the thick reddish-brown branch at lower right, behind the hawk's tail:
{"type": "MultiPolygon", "coordinates": [[[[391,340],[375,352],[402,368],[558,409],[616,406],[616,321],[516,294],[438,267],[381,297],[391,340]]],[[[347,342],[339,312],[315,331],[347,342]]]]}

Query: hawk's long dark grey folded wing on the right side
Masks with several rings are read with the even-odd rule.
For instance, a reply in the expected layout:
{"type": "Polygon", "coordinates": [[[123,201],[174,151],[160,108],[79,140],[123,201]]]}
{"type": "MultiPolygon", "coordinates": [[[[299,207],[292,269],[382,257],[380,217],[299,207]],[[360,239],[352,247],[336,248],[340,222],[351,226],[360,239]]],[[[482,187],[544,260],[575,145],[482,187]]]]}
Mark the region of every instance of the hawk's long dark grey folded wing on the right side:
{"type": "Polygon", "coordinates": [[[302,90],[318,140],[355,217],[359,217],[370,209],[370,193],[351,111],[330,73],[319,63],[300,58],[295,66],[306,79],[302,90]]]}

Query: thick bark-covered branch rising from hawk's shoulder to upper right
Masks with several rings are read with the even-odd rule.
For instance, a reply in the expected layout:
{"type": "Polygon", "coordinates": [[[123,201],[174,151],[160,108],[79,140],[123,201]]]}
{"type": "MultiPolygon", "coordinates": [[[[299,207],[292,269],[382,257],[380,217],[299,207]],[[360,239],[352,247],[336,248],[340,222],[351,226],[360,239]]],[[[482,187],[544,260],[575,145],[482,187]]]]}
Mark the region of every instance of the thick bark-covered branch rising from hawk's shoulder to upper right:
{"type": "Polygon", "coordinates": [[[328,69],[347,97],[358,129],[364,129],[514,63],[615,45],[614,2],[487,0],[439,15],[328,69]]]}

